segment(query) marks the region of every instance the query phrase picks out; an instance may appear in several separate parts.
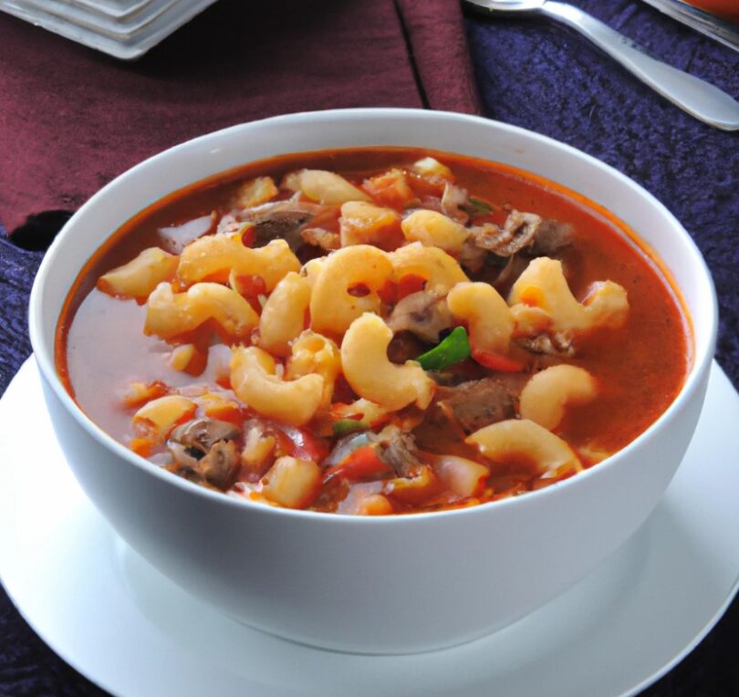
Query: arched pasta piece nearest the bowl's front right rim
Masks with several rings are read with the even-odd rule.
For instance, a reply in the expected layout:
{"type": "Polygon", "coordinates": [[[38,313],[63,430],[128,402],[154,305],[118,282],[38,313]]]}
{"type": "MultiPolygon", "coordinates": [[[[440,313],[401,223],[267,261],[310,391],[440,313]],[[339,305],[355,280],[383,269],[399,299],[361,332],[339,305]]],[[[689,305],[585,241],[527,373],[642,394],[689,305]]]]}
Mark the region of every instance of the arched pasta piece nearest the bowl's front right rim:
{"type": "Polygon", "coordinates": [[[464,442],[476,445],[484,457],[496,463],[522,458],[535,465],[537,472],[545,477],[582,469],[578,456],[567,442],[526,419],[498,421],[475,431],[464,442]]]}

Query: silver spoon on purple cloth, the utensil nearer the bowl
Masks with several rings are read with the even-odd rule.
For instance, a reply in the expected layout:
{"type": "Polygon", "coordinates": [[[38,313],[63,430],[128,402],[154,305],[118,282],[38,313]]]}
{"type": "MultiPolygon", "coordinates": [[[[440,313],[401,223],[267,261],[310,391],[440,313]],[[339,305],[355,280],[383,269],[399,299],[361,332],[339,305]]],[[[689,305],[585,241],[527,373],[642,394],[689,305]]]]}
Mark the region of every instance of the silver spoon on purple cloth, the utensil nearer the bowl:
{"type": "Polygon", "coordinates": [[[721,89],[649,57],[626,36],[577,7],[553,0],[463,0],[484,15],[536,13],[564,22],[675,106],[721,130],[739,130],[739,102],[721,89]]]}

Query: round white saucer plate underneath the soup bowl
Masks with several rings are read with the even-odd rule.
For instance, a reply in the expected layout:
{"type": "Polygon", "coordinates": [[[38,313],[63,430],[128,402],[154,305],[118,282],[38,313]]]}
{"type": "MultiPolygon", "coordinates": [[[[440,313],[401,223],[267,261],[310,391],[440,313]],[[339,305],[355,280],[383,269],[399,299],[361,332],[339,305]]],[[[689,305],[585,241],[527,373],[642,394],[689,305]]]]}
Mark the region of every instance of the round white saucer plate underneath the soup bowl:
{"type": "Polygon", "coordinates": [[[734,598],[737,422],[739,395],[713,364],[680,470],[646,524],[607,562],[482,640],[368,657],[238,624],[125,546],[69,472],[29,359],[0,401],[0,577],[53,650],[121,697],[634,694],[690,652],[734,598]]]}

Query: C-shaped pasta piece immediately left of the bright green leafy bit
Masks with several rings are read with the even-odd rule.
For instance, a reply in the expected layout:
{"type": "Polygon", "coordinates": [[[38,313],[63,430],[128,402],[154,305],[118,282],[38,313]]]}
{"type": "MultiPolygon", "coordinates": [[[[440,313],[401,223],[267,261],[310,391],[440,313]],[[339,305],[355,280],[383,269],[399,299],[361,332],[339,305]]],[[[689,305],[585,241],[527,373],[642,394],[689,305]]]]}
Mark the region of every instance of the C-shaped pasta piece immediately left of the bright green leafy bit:
{"type": "Polygon", "coordinates": [[[434,382],[415,360],[398,366],[388,359],[392,331],[380,317],[365,313],[351,323],[341,342],[344,377],[360,397],[395,411],[415,402],[425,409],[434,382]]]}

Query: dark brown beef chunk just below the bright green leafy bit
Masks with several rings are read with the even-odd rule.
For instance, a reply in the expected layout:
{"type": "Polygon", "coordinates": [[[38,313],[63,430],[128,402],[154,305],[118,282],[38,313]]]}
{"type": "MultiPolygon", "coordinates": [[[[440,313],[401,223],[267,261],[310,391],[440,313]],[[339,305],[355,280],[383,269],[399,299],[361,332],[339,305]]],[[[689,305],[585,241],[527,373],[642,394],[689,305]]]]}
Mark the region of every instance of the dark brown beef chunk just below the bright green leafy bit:
{"type": "Polygon", "coordinates": [[[471,380],[436,390],[426,424],[446,429],[451,424],[469,435],[491,423],[513,419],[517,393],[494,378],[471,380]]]}

